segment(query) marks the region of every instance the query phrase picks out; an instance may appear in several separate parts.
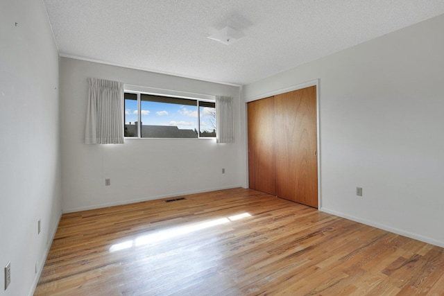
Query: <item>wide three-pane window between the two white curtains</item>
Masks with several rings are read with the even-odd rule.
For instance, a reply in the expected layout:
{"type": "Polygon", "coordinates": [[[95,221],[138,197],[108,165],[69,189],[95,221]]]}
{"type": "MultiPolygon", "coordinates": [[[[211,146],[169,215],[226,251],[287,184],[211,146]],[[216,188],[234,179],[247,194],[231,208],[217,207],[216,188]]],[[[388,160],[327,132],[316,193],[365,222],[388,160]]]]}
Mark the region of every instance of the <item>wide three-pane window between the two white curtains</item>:
{"type": "Polygon", "coordinates": [[[215,103],[125,92],[125,137],[214,138],[215,103]]]}

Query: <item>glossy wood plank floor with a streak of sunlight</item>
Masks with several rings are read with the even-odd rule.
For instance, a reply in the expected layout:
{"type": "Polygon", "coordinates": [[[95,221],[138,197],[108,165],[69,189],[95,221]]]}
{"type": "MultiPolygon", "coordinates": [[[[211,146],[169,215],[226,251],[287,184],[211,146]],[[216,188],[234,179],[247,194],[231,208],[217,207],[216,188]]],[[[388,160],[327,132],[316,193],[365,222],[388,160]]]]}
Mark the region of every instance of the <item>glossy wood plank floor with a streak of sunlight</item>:
{"type": "Polygon", "coordinates": [[[251,189],[180,198],[64,214],[34,295],[444,295],[441,247],[251,189]]]}

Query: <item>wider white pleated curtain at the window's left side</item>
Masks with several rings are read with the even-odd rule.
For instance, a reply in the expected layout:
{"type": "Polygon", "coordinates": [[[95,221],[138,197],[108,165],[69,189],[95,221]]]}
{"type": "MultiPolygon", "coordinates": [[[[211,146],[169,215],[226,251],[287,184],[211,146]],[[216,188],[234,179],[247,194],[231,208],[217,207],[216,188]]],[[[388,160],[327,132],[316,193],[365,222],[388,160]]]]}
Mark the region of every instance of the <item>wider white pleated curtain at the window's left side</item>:
{"type": "Polygon", "coordinates": [[[124,143],[123,83],[89,78],[87,144],[124,143]]]}

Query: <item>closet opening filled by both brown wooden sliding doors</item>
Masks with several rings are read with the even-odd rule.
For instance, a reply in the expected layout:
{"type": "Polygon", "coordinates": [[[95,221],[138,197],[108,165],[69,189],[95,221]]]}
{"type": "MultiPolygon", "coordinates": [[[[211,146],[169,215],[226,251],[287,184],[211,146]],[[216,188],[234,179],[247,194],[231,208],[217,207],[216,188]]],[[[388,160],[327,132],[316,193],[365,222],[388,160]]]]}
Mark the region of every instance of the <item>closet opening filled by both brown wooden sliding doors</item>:
{"type": "Polygon", "coordinates": [[[251,189],[318,207],[316,86],[248,103],[251,189]]]}

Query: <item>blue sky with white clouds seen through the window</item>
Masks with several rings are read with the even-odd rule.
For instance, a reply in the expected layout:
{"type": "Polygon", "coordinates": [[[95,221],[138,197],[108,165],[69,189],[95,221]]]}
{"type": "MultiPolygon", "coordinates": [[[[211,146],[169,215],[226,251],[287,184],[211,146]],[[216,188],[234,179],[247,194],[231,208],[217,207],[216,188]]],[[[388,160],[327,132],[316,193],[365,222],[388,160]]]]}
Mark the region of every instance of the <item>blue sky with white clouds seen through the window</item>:
{"type": "MultiPolygon", "coordinates": [[[[197,106],[141,102],[142,125],[176,125],[182,130],[198,128],[197,106]]],[[[200,130],[212,131],[215,128],[214,116],[210,114],[214,108],[200,107],[200,130]]],[[[137,101],[125,101],[125,123],[137,121],[137,101]]]]}

